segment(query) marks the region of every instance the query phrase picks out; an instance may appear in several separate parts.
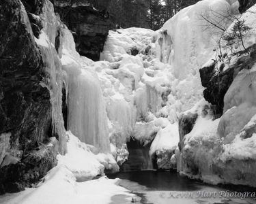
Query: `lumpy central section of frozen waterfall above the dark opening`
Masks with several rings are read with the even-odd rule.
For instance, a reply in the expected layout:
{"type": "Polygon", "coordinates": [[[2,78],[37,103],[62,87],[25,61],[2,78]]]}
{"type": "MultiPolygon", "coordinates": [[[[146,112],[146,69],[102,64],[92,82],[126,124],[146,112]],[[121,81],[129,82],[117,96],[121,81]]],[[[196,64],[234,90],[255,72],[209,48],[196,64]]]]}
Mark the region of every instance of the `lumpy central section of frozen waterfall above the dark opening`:
{"type": "MultiPolygon", "coordinates": [[[[170,65],[156,58],[154,35],[153,31],[137,28],[111,31],[101,55],[109,62],[101,67],[102,62],[94,65],[107,103],[111,142],[117,148],[131,136],[141,143],[152,141],[160,129],[176,122],[182,111],[180,101],[174,99],[174,84],[184,83],[175,80],[170,65]],[[132,50],[137,50],[136,56],[131,55],[132,50]],[[169,98],[172,90],[174,96],[169,98]]],[[[180,85],[177,95],[184,85],[180,85]]]]}

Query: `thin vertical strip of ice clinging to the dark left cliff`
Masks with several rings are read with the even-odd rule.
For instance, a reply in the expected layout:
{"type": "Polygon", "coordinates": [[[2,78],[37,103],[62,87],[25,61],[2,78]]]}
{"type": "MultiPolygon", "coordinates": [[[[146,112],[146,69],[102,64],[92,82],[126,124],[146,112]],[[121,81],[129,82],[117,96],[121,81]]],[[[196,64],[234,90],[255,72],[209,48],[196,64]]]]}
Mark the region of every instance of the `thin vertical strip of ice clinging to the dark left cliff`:
{"type": "Polygon", "coordinates": [[[66,131],[63,124],[62,116],[62,86],[63,73],[61,69],[60,54],[55,48],[55,37],[60,26],[57,20],[53,5],[50,1],[44,3],[42,8],[43,29],[39,39],[35,38],[40,51],[42,52],[44,65],[48,72],[48,78],[42,82],[42,86],[46,86],[50,90],[52,104],[52,126],[53,135],[59,138],[59,152],[66,152],[66,131]]]}

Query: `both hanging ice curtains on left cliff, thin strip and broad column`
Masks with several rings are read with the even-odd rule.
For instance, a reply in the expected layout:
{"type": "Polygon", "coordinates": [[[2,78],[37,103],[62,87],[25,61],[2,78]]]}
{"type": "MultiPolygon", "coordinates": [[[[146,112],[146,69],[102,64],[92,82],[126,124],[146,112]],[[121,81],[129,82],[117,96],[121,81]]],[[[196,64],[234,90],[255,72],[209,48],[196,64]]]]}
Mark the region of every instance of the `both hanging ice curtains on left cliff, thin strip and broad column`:
{"type": "Polygon", "coordinates": [[[59,136],[60,152],[66,148],[61,110],[63,84],[68,98],[68,129],[81,141],[96,146],[101,152],[109,152],[109,129],[98,76],[88,69],[89,60],[76,52],[72,33],[57,19],[49,1],[42,14],[44,29],[35,41],[48,67],[49,79],[42,86],[51,91],[53,131],[59,136]]]}

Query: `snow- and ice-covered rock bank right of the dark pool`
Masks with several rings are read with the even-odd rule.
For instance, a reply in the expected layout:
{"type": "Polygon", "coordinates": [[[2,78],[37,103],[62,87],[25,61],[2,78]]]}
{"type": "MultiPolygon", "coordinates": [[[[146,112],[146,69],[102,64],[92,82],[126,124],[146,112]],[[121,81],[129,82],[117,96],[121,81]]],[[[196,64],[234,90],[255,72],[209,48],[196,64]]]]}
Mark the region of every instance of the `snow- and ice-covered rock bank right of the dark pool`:
{"type": "MultiPolygon", "coordinates": [[[[253,12],[255,9],[255,6],[251,7],[240,18],[246,25],[252,27],[252,31],[244,35],[246,46],[255,44],[255,24],[252,24],[255,19],[253,12]]],[[[231,27],[233,24],[228,31],[231,27]]],[[[236,44],[232,46],[236,52],[242,50],[236,44]]],[[[182,139],[182,148],[175,150],[177,169],[180,173],[211,184],[255,186],[256,61],[254,51],[251,52],[246,59],[227,52],[231,60],[225,62],[226,71],[234,69],[234,74],[230,87],[224,92],[221,118],[214,120],[212,118],[214,112],[203,114],[203,109],[195,106],[198,110],[195,126],[182,139]]],[[[219,83],[222,83],[221,80],[219,83]]],[[[193,113],[195,110],[190,112],[193,113]]]]}

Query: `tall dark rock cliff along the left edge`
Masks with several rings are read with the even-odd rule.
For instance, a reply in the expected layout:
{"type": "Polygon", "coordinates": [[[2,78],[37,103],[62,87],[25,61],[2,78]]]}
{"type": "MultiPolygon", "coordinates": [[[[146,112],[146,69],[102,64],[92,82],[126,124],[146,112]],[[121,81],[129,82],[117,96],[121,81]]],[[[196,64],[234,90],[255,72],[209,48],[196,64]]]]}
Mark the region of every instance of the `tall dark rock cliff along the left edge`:
{"type": "Polygon", "coordinates": [[[43,2],[23,1],[30,18],[18,0],[0,5],[0,194],[23,190],[55,165],[51,96],[34,40],[40,20],[29,21],[43,2]]]}

